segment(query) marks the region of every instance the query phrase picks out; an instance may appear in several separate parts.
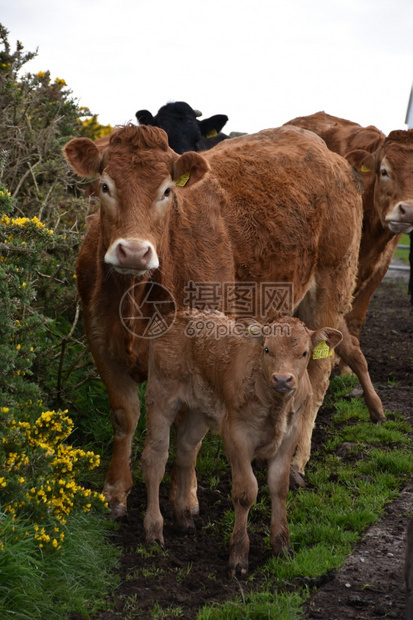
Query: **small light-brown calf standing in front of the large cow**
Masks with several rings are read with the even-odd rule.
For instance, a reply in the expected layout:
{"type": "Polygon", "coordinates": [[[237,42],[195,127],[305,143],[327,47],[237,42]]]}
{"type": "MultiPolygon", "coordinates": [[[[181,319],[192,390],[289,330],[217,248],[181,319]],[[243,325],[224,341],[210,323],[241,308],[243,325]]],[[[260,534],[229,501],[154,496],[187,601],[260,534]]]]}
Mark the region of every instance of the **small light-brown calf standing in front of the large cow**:
{"type": "Polygon", "coordinates": [[[254,459],[268,464],[271,547],[275,554],[289,551],[290,461],[301,416],[312,399],[307,367],[317,345],[332,349],[341,338],[339,331],[328,327],[308,330],[296,318],[265,326],[251,322],[247,327],[223,314],[183,312],[169,332],[151,343],[142,456],[148,543],[164,542],[159,485],[168,460],[170,427],[184,405],[175,458],[177,525],[184,530],[194,526],[191,491],[196,457],[212,429],[224,441],[232,471],[231,575],[248,569],[247,520],[258,492],[251,467],[254,459]]]}

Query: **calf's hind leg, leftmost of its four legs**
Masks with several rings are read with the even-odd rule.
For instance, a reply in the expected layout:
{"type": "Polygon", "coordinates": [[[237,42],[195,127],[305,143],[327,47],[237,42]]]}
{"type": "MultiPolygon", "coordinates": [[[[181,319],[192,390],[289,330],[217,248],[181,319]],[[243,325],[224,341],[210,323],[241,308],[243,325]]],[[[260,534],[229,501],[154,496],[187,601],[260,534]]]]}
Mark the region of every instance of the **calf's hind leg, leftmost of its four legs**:
{"type": "MultiPolygon", "coordinates": [[[[156,393],[152,392],[152,393],[156,393]]],[[[158,392],[158,396],[161,393],[158,392]]],[[[144,518],[147,543],[158,540],[163,544],[163,517],[159,506],[159,486],[168,460],[170,429],[178,406],[167,399],[146,394],[145,447],[142,453],[142,474],[146,485],[147,509],[144,518]]]]}

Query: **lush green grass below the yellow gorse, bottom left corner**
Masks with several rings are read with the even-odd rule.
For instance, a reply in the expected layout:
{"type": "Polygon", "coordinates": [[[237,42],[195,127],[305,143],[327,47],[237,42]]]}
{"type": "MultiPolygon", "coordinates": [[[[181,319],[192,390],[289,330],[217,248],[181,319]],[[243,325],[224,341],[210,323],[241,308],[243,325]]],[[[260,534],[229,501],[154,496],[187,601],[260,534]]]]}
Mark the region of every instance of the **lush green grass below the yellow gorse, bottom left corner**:
{"type": "Polygon", "coordinates": [[[2,522],[0,618],[62,620],[101,607],[117,583],[119,552],[105,541],[107,531],[100,516],[73,515],[62,550],[42,555],[32,536],[13,542],[11,519],[2,522]]]}

